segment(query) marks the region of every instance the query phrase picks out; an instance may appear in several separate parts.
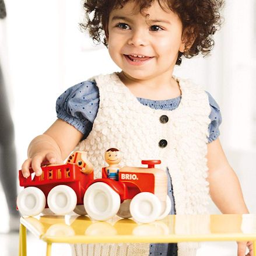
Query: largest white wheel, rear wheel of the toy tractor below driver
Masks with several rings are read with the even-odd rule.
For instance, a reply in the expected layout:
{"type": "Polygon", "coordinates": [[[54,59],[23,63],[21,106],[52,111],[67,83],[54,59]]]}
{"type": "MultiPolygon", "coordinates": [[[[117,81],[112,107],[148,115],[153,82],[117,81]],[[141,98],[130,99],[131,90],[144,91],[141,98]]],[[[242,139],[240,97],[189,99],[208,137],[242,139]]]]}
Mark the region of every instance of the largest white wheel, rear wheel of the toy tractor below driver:
{"type": "Polygon", "coordinates": [[[107,220],[117,214],[120,208],[120,196],[106,183],[97,182],[87,188],[83,203],[91,218],[107,220]]]}

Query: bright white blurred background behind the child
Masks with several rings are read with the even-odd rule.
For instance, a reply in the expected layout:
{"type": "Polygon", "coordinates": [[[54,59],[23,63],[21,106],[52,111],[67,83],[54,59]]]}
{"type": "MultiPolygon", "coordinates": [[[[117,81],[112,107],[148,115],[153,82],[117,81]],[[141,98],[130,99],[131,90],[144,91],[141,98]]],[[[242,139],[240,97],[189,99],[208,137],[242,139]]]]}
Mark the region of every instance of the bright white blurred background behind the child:
{"type": "MultiPolygon", "coordinates": [[[[12,0],[5,5],[7,16],[0,19],[0,63],[19,170],[31,139],[55,121],[59,94],[92,75],[120,69],[103,44],[94,45],[80,32],[79,0],[12,0]]],[[[256,213],[256,1],[226,0],[222,13],[225,21],[215,33],[211,56],[183,59],[174,75],[191,78],[219,104],[220,141],[239,177],[247,206],[256,213]]],[[[0,209],[0,233],[7,232],[8,208],[1,188],[0,209]]],[[[210,212],[220,213],[213,204],[210,212]]],[[[208,243],[208,250],[211,246],[208,243]]],[[[230,250],[233,243],[226,254],[218,255],[234,255],[230,250]]]]}

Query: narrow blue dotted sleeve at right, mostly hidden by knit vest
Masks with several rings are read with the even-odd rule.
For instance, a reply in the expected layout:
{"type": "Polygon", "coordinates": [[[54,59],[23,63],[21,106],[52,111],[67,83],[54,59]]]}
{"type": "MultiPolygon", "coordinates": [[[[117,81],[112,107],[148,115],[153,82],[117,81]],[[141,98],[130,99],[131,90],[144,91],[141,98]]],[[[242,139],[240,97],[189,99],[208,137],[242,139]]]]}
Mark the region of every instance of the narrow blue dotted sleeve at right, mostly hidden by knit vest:
{"type": "Polygon", "coordinates": [[[209,124],[209,138],[208,143],[215,141],[220,135],[219,125],[222,123],[222,115],[220,114],[219,105],[213,99],[210,93],[206,92],[209,97],[209,103],[211,107],[211,114],[209,118],[211,119],[211,124],[209,124]]]}

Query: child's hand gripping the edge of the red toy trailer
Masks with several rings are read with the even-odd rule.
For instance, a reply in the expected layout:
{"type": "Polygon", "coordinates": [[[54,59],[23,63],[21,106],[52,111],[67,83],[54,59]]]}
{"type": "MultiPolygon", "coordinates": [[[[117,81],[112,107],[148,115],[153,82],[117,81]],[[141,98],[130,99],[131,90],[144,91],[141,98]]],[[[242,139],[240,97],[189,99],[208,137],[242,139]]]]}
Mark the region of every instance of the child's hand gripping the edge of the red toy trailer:
{"type": "Polygon", "coordinates": [[[61,156],[53,151],[36,153],[22,164],[23,177],[27,178],[30,176],[30,167],[32,167],[33,171],[36,173],[36,176],[40,176],[42,174],[41,166],[44,166],[45,164],[63,164],[63,161],[61,156]]]}

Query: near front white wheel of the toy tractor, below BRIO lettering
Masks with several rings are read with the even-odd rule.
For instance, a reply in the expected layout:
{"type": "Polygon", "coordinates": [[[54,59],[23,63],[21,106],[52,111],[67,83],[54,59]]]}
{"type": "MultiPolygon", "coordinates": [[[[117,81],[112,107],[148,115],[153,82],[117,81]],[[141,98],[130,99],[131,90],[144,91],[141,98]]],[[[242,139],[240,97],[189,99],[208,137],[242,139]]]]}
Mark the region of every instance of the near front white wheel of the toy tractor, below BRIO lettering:
{"type": "Polygon", "coordinates": [[[160,215],[161,204],[156,195],[141,192],[132,198],[130,212],[132,217],[141,223],[153,222],[160,215]]]}

